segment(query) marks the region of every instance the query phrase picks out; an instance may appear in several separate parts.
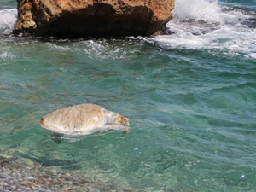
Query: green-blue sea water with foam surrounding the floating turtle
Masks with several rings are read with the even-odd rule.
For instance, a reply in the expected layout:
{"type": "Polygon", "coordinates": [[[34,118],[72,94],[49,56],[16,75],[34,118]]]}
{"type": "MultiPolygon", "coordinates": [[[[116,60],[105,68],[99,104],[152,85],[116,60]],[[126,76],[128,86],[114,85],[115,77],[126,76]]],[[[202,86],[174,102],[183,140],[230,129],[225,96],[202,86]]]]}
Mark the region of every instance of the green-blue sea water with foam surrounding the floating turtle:
{"type": "Polygon", "coordinates": [[[172,36],[76,41],[6,36],[16,5],[1,3],[1,153],[135,190],[255,191],[255,9],[193,2],[177,0],[172,36]],[[129,135],[55,143],[38,125],[84,102],[127,116],[129,135]]]}

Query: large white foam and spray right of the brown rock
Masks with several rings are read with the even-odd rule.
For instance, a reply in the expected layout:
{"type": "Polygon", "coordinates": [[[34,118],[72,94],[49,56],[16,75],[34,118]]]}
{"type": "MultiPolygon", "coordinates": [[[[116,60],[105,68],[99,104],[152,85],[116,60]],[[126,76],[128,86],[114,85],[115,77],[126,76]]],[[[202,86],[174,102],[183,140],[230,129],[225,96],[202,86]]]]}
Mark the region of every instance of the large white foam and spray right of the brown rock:
{"type": "Polygon", "coordinates": [[[176,0],[174,19],[167,26],[171,36],[155,38],[173,49],[214,49],[253,58],[256,54],[255,29],[244,24],[253,18],[231,9],[223,11],[218,1],[176,0]]]}

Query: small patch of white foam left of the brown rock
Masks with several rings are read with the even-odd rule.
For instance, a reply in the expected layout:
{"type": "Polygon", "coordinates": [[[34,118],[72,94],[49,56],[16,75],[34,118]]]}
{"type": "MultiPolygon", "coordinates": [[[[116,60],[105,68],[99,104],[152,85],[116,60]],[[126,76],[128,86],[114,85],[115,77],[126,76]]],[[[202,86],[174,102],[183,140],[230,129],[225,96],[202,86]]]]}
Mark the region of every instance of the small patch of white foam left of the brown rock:
{"type": "Polygon", "coordinates": [[[17,9],[0,10],[0,33],[8,34],[15,26],[17,9]]]}

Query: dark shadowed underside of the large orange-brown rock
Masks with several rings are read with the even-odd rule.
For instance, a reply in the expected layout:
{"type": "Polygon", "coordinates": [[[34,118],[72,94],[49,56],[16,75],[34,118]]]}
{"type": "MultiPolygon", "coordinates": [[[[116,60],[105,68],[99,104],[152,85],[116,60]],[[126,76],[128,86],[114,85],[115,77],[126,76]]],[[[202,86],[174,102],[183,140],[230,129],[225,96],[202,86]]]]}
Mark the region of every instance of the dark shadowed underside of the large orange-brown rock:
{"type": "MultiPolygon", "coordinates": [[[[93,8],[92,8],[93,9],[93,8]]],[[[133,12],[140,12],[141,8],[135,8],[133,12]]],[[[86,12],[86,10],[84,10],[86,12]]],[[[152,11],[143,10],[144,17],[152,17],[152,11]]],[[[137,20],[137,15],[126,15],[116,18],[114,9],[108,5],[100,5],[95,15],[82,15],[79,13],[61,15],[47,26],[39,26],[38,35],[55,36],[59,38],[83,38],[83,37],[125,37],[148,36],[150,23],[137,20]],[[108,15],[108,16],[107,16],[108,15]]]]}

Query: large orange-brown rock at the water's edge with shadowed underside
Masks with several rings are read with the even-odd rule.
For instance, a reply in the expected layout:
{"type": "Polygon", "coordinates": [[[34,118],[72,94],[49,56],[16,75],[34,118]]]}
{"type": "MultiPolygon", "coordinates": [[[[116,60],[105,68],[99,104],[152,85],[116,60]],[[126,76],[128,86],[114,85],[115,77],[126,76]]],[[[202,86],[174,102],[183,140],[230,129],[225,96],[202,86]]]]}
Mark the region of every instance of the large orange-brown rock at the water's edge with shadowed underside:
{"type": "Polygon", "coordinates": [[[14,33],[59,38],[148,36],[165,31],[174,0],[17,0],[14,33]]]}

